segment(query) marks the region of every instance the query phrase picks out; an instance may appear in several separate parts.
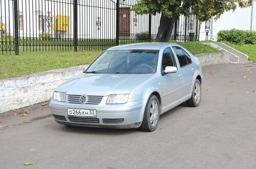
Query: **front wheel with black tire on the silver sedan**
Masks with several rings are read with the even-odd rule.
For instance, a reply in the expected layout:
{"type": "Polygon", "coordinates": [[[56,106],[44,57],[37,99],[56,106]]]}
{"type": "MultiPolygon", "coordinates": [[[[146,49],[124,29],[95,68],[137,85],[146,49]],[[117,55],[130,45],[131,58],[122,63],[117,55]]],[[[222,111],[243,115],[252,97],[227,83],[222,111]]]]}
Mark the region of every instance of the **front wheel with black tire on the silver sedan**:
{"type": "Polygon", "coordinates": [[[151,95],[148,99],[144,111],[143,121],[140,126],[141,131],[155,131],[159,122],[160,105],[156,95],[151,95]]]}

